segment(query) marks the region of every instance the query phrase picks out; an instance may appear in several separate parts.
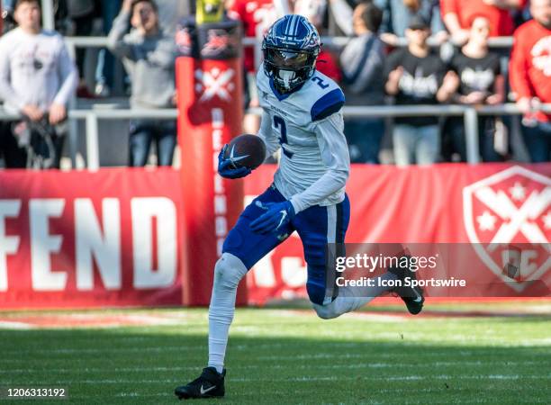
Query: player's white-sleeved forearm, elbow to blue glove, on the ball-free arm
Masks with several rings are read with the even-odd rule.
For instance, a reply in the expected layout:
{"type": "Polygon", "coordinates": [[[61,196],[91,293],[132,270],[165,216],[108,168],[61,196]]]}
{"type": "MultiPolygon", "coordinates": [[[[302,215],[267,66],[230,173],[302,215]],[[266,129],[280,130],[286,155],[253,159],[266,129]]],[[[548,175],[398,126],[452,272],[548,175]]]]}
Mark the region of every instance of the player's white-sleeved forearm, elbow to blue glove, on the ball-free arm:
{"type": "Polygon", "coordinates": [[[303,191],[291,197],[294,212],[304,211],[312,205],[319,204],[331,194],[342,189],[348,180],[348,170],[330,170],[322,175],[316,182],[303,191]]]}

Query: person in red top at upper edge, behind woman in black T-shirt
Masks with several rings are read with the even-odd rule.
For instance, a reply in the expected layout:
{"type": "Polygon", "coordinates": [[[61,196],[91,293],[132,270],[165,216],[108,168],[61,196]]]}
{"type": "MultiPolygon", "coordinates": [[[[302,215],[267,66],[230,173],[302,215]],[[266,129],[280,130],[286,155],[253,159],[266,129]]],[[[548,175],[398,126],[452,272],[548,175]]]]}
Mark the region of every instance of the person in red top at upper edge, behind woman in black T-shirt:
{"type": "Polygon", "coordinates": [[[440,0],[442,20],[452,39],[463,45],[470,35],[474,15],[490,21],[490,36],[511,35],[515,29],[511,10],[519,10],[528,0],[440,0]]]}

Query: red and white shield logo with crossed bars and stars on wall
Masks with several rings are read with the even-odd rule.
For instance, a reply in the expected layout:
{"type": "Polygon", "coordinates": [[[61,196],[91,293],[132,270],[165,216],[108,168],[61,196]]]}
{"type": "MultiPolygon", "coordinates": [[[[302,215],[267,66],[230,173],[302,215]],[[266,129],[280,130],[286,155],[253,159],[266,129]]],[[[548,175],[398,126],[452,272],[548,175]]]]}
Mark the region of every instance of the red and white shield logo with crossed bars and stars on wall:
{"type": "Polygon", "coordinates": [[[477,255],[516,292],[551,268],[548,176],[512,166],[466,186],[463,210],[466,233],[477,255]]]}

